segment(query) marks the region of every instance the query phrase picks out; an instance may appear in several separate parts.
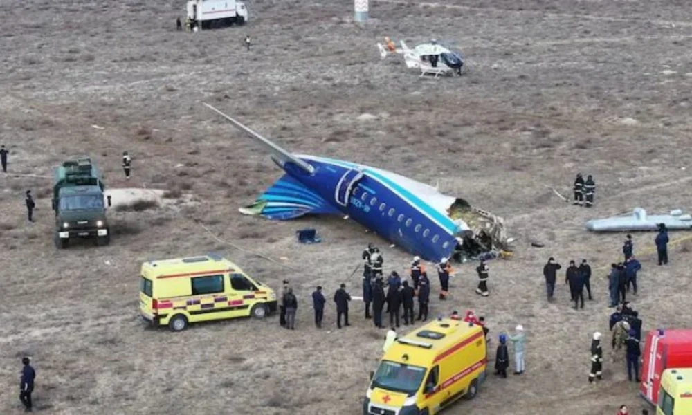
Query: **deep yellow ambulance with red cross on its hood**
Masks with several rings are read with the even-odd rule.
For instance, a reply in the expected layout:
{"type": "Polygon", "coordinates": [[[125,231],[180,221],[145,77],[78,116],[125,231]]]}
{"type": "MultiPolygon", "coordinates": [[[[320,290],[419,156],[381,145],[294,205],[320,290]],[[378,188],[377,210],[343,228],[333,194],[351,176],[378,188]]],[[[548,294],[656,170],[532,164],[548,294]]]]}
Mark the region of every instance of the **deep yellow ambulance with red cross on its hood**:
{"type": "Polygon", "coordinates": [[[439,319],[398,338],[371,374],[363,415],[435,415],[485,380],[481,326],[439,319]]]}

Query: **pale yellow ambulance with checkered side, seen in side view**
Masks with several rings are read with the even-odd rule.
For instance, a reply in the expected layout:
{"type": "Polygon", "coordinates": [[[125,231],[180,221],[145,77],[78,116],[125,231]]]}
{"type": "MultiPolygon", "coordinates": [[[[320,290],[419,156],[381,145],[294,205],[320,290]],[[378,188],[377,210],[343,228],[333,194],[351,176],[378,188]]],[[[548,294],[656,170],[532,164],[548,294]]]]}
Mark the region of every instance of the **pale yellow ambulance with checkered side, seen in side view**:
{"type": "Polygon", "coordinates": [[[154,326],[181,331],[189,323],[276,311],[276,294],[219,255],[142,264],[140,312],[154,326]]]}

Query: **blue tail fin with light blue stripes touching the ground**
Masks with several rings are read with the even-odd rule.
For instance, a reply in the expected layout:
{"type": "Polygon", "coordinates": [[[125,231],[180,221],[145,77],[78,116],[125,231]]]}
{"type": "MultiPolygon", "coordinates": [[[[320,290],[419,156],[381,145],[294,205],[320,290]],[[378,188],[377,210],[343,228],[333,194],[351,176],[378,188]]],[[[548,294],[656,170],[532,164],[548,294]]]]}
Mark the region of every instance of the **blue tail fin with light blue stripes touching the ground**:
{"type": "Polygon", "coordinates": [[[285,174],[269,187],[255,203],[240,208],[242,214],[260,215],[286,221],[304,214],[341,214],[334,205],[302,183],[285,174]]]}

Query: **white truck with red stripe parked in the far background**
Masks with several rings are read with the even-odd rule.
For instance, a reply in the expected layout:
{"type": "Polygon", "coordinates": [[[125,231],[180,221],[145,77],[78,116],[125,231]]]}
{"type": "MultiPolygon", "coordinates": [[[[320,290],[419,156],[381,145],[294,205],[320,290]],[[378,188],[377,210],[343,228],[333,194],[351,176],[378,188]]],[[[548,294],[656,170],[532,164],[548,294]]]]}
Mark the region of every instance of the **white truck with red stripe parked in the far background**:
{"type": "Polygon", "coordinates": [[[198,30],[219,28],[232,24],[245,24],[248,9],[245,3],[235,0],[190,0],[188,19],[198,30]]]}

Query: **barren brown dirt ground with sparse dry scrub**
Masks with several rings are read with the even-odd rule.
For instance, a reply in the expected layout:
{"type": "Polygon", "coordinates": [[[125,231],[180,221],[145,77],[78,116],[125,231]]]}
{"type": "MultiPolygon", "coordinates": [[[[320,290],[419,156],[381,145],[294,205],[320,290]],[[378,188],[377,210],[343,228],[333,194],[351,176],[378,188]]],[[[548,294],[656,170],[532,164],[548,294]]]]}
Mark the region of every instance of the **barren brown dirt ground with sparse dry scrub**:
{"type": "MultiPolygon", "coordinates": [[[[623,235],[590,234],[583,223],[635,206],[690,207],[686,1],[373,0],[372,19],[358,26],[352,1],[263,0],[248,3],[244,28],[203,33],[176,32],[182,0],[3,4],[0,142],[18,176],[0,174],[0,414],[21,410],[24,355],[33,357],[42,413],[362,413],[385,331],[363,319],[358,302],[352,326],[337,331],[331,296],[340,282],[361,295],[360,273],[348,276],[368,242],[383,250],[385,272],[404,272],[410,255],[338,217],[280,223],[239,214],[282,172],[203,101],[295,153],[439,181],[506,219],[518,246],[512,259],[490,263],[490,297],[473,293],[475,265],[459,264],[444,304],[431,275],[431,314],[474,308],[495,344],[523,324],[527,372],[490,376],[449,414],[614,414],[622,403],[641,412],[623,362],[606,358],[605,380],[587,382],[594,331],[610,350],[605,269],[597,268],[620,257],[623,235]],[[468,70],[421,80],[401,55],[379,59],[384,36],[410,46],[448,41],[468,70]],[[358,120],[363,113],[376,120],[358,120]],[[109,246],[57,250],[51,179],[24,175],[50,176],[73,154],[89,154],[109,187],[167,193],[158,208],[111,210],[109,246]],[[577,172],[596,178],[592,210],[547,187],[570,196],[577,172]],[[26,220],[28,189],[35,223],[26,220]],[[322,243],[300,245],[295,231],[306,227],[322,243]],[[182,333],[145,327],[141,263],[210,251],[276,290],[291,280],[296,330],[281,329],[277,316],[182,333]],[[595,298],[583,311],[571,309],[562,285],[546,303],[541,271],[550,256],[563,267],[592,263],[595,298]],[[329,299],[322,330],[309,298],[318,284],[329,299]]],[[[644,330],[692,326],[690,249],[671,246],[671,264],[658,267],[645,253],[654,236],[635,234],[644,268],[632,301],[644,330]]]]}

